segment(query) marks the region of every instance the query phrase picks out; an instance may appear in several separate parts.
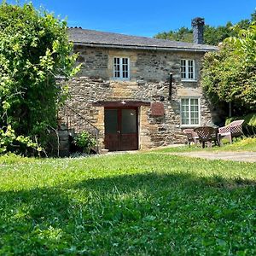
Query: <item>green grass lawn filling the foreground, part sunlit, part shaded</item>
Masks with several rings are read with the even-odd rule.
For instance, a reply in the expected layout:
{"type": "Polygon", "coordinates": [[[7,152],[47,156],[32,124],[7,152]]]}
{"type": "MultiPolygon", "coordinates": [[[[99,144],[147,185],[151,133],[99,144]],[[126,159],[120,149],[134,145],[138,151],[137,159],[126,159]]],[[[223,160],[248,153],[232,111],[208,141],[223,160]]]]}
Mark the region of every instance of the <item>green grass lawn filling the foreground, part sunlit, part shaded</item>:
{"type": "Polygon", "coordinates": [[[1,255],[255,255],[256,164],[0,157],[1,255]]]}

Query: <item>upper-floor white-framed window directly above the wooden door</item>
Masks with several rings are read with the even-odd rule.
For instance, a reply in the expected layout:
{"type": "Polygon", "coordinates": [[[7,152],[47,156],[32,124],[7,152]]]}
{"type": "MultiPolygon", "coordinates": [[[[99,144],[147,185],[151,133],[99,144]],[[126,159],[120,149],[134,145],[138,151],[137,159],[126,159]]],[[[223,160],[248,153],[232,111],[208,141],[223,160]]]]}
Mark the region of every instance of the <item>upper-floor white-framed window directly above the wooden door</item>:
{"type": "Polygon", "coordinates": [[[129,58],[113,57],[113,79],[130,79],[129,58]]]}

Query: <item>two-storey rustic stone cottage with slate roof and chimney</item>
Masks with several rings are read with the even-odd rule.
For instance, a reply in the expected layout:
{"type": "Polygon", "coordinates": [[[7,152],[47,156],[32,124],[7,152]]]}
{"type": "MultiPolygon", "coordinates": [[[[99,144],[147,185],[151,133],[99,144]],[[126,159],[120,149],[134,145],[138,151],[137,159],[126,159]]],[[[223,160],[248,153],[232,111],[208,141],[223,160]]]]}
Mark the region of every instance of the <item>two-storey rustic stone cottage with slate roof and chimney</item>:
{"type": "MultiPolygon", "coordinates": [[[[212,124],[203,96],[204,20],[194,44],[70,28],[82,64],[67,106],[99,130],[100,148],[136,150],[183,143],[183,129],[212,124]]],[[[84,128],[86,129],[86,128],[84,128]]]]}

